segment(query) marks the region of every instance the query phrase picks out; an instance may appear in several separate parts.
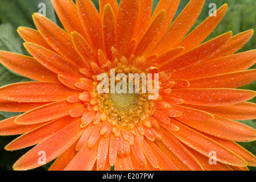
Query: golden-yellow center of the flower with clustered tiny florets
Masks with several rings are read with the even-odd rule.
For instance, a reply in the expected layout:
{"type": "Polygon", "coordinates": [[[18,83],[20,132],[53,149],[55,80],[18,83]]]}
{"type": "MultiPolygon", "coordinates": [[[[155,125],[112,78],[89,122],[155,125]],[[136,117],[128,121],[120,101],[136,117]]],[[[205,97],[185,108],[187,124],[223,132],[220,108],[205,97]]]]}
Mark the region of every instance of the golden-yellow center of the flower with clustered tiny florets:
{"type": "MultiPolygon", "coordinates": [[[[138,75],[141,75],[144,72],[121,64],[118,64],[113,69],[112,71],[105,72],[108,75],[108,89],[105,89],[105,91],[108,91],[108,93],[100,93],[98,89],[94,89],[94,92],[97,92],[97,94],[92,95],[97,95],[99,108],[107,116],[104,118],[104,121],[110,122],[118,130],[133,130],[136,125],[142,125],[154,113],[154,102],[148,100],[147,90],[142,92],[143,81],[141,78],[137,79],[137,81],[135,79],[128,81],[129,74],[138,73],[138,75]],[[113,75],[111,75],[113,69],[115,71],[114,82],[113,75]],[[123,73],[126,76],[126,82],[121,84],[124,77],[119,78],[119,73],[123,73]],[[111,89],[113,86],[115,87],[114,92],[111,89]],[[121,89],[122,92],[117,92],[117,88],[121,89]]],[[[99,88],[99,84],[100,82],[98,81],[97,88],[99,88]]]]}

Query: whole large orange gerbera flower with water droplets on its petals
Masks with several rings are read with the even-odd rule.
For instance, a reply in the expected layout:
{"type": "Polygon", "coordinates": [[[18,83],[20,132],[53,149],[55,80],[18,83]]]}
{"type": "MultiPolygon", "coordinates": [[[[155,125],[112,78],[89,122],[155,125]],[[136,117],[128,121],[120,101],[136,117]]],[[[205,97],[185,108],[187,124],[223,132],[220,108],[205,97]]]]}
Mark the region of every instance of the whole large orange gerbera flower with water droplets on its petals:
{"type": "MultiPolygon", "coordinates": [[[[256,51],[236,53],[253,30],[202,43],[226,13],[225,4],[188,35],[204,0],[191,0],[174,20],[180,0],[52,0],[65,31],[34,14],[38,30],[19,27],[33,56],[0,52],[7,68],[33,80],[3,86],[0,110],[24,112],[0,122],[1,135],[22,134],[6,146],[36,146],[15,170],[246,170],[256,158],[237,142],[255,129],[233,120],[255,119],[250,90],[256,51]],[[170,26],[171,24],[171,26],[170,26]],[[170,27],[169,27],[170,26],[170,27]],[[187,35],[187,36],[185,36],[187,35]],[[158,73],[159,97],[99,93],[98,75],[158,73]],[[213,154],[216,158],[212,158],[213,154]],[[214,159],[214,165],[210,164],[214,159]]],[[[117,82],[115,83],[117,84],[117,82]]],[[[140,88],[141,89],[141,88],[140,88]]]]}

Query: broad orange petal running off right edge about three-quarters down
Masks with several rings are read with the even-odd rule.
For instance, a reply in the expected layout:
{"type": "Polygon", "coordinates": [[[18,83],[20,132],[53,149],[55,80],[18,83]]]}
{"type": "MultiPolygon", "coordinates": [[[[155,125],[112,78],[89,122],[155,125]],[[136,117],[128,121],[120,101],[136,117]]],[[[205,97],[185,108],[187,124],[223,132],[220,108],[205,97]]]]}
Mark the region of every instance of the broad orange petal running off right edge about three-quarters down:
{"type": "Polygon", "coordinates": [[[214,115],[214,119],[207,122],[197,122],[193,120],[185,120],[183,118],[177,118],[185,125],[191,126],[194,129],[203,131],[210,135],[226,140],[233,140],[237,142],[250,142],[256,140],[256,130],[243,125],[242,123],[222,118],[218,115],[214,115]]]}

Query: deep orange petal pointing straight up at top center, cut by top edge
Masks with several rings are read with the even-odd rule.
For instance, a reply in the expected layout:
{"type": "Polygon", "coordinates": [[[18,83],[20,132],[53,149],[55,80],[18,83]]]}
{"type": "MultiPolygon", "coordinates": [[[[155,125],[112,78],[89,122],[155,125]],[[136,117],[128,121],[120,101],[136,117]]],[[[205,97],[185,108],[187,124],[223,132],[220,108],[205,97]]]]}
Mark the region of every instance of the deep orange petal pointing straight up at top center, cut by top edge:
{"type": "Polygon", "coordinates": [[[117,50],[121,56],[126,52],[127,46],[133,38],[139,14],[139,0],[121,1],[117,16],[117,50]],[[129,22],[129,26],[127,26],[129,22]]]}

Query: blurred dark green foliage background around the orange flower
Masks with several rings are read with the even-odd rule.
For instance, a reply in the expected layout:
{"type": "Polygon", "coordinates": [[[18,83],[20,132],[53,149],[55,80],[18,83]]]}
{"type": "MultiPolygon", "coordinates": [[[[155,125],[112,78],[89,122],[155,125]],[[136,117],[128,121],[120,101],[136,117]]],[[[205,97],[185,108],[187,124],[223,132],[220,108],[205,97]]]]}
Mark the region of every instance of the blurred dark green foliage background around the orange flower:
{"type": "MultiPolygon", "coordinates": [[[[16,29],[19,26],[35,28],[32,22],[32,14],[39,11],[38,4],[45,3],[46,16],[53,22],[61,26],[59,19],[56,16],[55,11],[49,0],[0,0],[0,50],[10,51],[28,55],[27,51],[23,48],[23,40],[19,37],[16,29]]],[[[97,0],[93,0],[96,7],[98,8],[97,0]]],[[[157,5],[159,0],[154,1],[154,7],[157,5]]],[[[177,14],[184,8],[189,0],[181,0],[177,14]]],[[[242,31],[253,29],[256,31],[256,1],[255,0],[205,0],[204,9],[199,16],[199,19],[195,23],[193,30],[198,26],[205,18],[208,17],[209,3],[216,3],[217,9],[228,3],[229,8],[224,19],[222,19],[219,26],[212,32],[209,39],[212,39],[224,32],[233,31],[233,35],[236,35],[242,31]]],[[[176,14],[176,15],[177,15],[176,14]]],[[[247,51],[256,48],[256,36],[253,38],[239,51],[247,51]]],[[[254,65],[256,68],[256,65],[254,65]]],[[[3,67],[0,64],[0,86],[12,84],[14,82],[30,81],[30,79],[20,76],[13,71],[3,67]]],[[[249,85],[245,85],[242,89],[256,90],[256,82],[249,85]]],[[[256,97],[251,100],[256,103],[256,97]]],[[[7,113],[0,111],[0,121],[5,118],[12,117],[20,113],[7,113]]],[[[256,120],[241,121],[246,125],[254,127],[256,129],[256,120]]],[[[0,170],[13,170],[12,166],[16,160],[20,158],[26,151],[30,150],[31,147],[25,148],[18,151],[5,151],[3,148],[15,139],[16,136],[11,137],[0,137],[0,170]]],[[[243,147],[249,150],[251,153],[256,155],[256,141],[249,143],[240,143],[243,147]]],[[[34,170],[47,170],[51,163],[48,163],[42,167],[34,170]]],[[[255,171],[255,167],[249,167],[252,171],[255,171]]]]}

